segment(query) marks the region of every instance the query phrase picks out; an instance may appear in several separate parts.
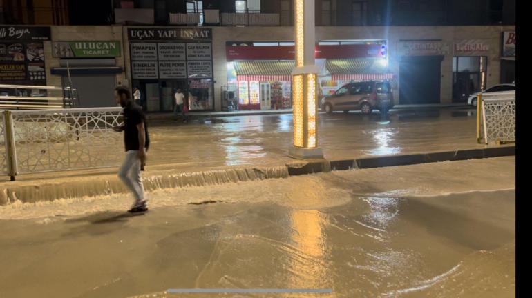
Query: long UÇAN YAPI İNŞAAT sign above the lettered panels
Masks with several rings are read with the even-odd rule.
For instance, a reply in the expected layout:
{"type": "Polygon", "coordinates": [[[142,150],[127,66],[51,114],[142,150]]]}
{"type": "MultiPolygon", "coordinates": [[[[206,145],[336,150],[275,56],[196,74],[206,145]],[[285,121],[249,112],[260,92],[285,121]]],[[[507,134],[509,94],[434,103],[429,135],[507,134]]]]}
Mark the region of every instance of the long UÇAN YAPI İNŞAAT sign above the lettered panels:
{"type": "Polygon", "coordinates": [[[129,40],[191,41],[211,40],[211,28],[128,28],[129,40]]]}

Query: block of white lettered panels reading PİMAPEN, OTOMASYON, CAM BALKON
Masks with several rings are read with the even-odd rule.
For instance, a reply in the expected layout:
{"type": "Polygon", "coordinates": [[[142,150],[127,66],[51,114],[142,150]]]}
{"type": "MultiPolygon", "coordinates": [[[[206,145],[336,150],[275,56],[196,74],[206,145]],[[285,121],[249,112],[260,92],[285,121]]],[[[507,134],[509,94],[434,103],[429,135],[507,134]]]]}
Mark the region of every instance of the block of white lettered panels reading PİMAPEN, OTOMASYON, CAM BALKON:
{"type": "Polygon", "coordinates": [[[133,79],[212,78],[212,43],[131,43],[133,79]]]}

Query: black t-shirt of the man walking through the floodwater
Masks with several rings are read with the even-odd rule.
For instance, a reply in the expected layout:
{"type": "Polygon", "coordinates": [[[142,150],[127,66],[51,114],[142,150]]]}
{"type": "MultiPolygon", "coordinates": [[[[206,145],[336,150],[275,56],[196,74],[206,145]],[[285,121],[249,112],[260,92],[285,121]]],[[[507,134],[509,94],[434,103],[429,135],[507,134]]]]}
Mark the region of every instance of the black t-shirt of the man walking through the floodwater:
{"type": "Polygon", "coordinates": [[[146,150],[150,145],[150,137],[148,136],[148,126],[146,125],[146,117],[142,108],[135,103],[129,104],[124,108],[124,145],[126,151],[139,150],[139,132],[137,125],[144,122],[144,131],[146,132],[146,143],[144,147],[146,150]]]}

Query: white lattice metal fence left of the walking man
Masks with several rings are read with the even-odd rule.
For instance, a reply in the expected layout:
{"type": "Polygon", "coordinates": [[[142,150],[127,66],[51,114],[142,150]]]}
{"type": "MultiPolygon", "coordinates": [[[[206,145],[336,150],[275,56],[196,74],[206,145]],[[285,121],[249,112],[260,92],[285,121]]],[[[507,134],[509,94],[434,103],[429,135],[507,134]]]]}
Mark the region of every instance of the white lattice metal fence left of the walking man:
{"type": "Polygon", "coordinates": [[[122,123],[121,112],[121,108],[73,108],[3,114],[1,169],[14,177],[30,172],[117,166],[122,134],[112,128],[122,123]],[[8,150],[10,145],[12,150],[8,150]]]}

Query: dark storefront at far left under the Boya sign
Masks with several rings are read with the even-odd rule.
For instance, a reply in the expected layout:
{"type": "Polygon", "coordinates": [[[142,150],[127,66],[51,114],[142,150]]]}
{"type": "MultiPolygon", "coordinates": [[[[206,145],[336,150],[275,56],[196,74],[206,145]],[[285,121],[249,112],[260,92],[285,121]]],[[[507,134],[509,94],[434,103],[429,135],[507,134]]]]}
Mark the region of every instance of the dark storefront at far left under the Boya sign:
{"type": "Polygon", "coordinates": [[[46,85],[50,27],[0,26],[0,84],[46,85]]]}

